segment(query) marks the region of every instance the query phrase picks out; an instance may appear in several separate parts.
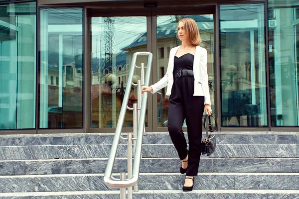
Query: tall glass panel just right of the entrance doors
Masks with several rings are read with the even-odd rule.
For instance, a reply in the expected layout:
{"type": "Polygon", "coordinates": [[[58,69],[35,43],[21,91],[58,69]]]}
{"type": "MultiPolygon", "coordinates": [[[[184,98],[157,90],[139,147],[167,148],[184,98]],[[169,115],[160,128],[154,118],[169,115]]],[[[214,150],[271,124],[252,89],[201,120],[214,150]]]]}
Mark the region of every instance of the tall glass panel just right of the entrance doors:
{"type": "Polygon", "coordinates": [[[220,6],[222,126],[266,126],[264,4],[220,6]]]}

